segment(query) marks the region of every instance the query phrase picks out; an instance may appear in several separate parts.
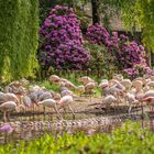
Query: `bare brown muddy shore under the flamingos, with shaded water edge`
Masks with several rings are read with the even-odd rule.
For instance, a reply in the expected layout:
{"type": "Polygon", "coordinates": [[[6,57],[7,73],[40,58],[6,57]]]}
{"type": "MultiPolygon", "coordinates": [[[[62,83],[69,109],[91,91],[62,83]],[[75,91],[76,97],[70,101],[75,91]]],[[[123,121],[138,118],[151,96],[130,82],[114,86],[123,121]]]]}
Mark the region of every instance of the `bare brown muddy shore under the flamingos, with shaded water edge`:
{"type": "MultiPolygon", "coordinates": [[[[85,119],[85,118],[95,118],[95,117],[110,117],[110,116],[121,116],[128,114],[128,106],[124,103],[119,103],[119,106],[112,105],[107,110],[106,107],[101,107],[102,98],[101,97],[80,97],[77,98],[76,101],[72,103],[72,108],[76,113],[76,119],[85,119]]],[[[64,111],[61,110],[61,113],[64,114],[64,111]]],[[[132,108],[133,114],[141,114],[141,107],[132,108]]],[[[2,114],[1,114],[2,118],[2,114]]],[[[67,109],[65,114],[66,120],[72,120],[72,113],[67,109]]],[[[43,107],[29,108],[26,111],[21,111],[19,113],[11,113],[11,121],[41,121],[41,120],[53,120],[57,121],[56,113],[53,109],[45,109],[43,107]]]]}

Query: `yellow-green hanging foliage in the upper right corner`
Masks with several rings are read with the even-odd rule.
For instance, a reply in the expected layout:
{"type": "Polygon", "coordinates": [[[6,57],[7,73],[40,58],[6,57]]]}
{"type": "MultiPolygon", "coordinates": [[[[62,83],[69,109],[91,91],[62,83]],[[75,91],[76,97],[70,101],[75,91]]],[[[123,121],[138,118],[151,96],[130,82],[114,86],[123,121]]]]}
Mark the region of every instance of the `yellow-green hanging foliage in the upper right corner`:
{"type": "Polygon", "coordinates": [[[154,51],[154,0],[102,0],[113,7],[129,30],[142,32],[142,42],[154,51]]]}

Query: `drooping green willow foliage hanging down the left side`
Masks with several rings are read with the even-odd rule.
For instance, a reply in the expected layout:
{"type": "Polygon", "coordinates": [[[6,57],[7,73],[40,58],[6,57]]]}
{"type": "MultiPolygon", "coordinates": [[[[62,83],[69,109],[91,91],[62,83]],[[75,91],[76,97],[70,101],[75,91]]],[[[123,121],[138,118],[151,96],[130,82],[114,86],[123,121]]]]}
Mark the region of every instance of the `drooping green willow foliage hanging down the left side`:
{"type": "Polygon", "coordinates": [[[0,77],[2,80],[33,75],[38,29],[37,0],[0,1],[0,77]]]}

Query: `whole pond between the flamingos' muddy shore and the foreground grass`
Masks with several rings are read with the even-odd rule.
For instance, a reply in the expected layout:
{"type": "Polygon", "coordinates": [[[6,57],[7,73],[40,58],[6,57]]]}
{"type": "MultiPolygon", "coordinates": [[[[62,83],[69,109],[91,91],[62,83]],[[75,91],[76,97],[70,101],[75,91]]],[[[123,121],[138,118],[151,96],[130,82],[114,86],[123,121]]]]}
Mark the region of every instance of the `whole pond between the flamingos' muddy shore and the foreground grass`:
{"type": "MultiPolygon", "coordinates": [[[[145,111],[146,113],[146,111],[145,111]]],[[[46,112],[26,112],[12,114],[11,122],[6,123],[11,125],[13,130],[11,133],[0,133],[0,143],[6,144],[9,142],[30,141],[42,136],[45,133],[50,133],[54,136],[62,135],[64,133],[75,134],[77,132],[84,132],[87,135],[101,132],[111,132],[117,127],[120,127],[127,120],[133,120],[140,122],[142,125],[153,127],[153,122],[146,119],[147,114],[144,114],[144,119],[141,114],[141,108],[133,110],[131,114],[127,112],[119,113],[103,113],[103,112],[76,112],[76,120],[73,120],[70,112],[65,113],[65,120],[57,120],[55,113],[46,112]]],[[[3,122],[0,125],[4,125],[3,122]]]]}

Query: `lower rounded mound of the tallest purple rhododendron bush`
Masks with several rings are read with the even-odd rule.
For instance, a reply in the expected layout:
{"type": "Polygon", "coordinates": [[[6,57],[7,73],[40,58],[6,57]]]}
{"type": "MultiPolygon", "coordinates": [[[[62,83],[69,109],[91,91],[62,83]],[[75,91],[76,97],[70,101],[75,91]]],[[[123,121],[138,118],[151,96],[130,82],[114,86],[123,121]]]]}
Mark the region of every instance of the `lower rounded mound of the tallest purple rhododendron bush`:
{"type": "Polygon", "coordinates": [[[54,52],[42,52],[41,58],[45,59],[45,66],[57,69],[84,69],[88,67],[90,54],[81,45],[74,42],[61,44],[54,52]]]}

